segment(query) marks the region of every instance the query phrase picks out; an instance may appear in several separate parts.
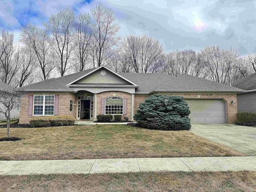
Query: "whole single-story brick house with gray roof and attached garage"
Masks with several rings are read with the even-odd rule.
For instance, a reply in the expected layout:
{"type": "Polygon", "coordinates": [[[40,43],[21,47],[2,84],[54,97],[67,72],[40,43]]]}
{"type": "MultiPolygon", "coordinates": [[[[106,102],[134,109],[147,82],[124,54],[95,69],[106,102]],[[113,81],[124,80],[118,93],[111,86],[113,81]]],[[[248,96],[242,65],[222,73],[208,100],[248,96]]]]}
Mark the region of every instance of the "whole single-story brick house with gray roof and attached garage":
{"type": "Polygon", "coordinates": [[[116,73],[106,66],[22,88],[20,123],[33,116],[70,115],[97,120],[98,114],[121,114],[133,120],[139,104],[151,94],[183,96],[192,122],[231,123],[236,119],[236,94],[243,90],[191,75],[116,73]]]}

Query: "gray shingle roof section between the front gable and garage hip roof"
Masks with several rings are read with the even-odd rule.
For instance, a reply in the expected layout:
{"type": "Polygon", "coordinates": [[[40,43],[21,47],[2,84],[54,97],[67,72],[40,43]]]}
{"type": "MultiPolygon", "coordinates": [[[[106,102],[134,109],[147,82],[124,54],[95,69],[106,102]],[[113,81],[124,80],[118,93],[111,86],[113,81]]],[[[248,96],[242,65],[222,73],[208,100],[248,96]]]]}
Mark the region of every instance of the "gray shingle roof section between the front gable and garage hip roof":
{"type": "Polygon", "coordinates": [[[150,93],[155,88],[172,80],[174,77],[164,73],[118,73],[136,83],[139,88],[135,93],[150,93]]]}

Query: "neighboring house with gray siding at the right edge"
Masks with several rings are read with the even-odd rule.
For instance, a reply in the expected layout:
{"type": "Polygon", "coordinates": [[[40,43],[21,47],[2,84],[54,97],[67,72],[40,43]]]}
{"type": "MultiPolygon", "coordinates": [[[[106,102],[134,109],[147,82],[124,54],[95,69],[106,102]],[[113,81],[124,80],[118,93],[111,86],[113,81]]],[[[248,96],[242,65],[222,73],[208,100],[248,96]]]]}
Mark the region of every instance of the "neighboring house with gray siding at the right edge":
{"type": "Polygon", "coordinates": [[[232,83],[232,86],[245,90],[237,95],[237,110],[256,113],[256,73],[232,83]]]}

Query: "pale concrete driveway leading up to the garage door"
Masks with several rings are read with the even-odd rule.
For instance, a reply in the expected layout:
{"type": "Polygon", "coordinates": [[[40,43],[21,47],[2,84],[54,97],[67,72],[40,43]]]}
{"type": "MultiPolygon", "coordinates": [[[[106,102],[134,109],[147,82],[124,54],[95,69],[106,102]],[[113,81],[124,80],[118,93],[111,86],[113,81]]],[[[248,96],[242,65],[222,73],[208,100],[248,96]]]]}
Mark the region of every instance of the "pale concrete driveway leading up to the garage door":
{"type": "Polygon", "coordinates": [[[192,124],[191,132],[256,156],[256,128],[234,124],[192,124]]]}

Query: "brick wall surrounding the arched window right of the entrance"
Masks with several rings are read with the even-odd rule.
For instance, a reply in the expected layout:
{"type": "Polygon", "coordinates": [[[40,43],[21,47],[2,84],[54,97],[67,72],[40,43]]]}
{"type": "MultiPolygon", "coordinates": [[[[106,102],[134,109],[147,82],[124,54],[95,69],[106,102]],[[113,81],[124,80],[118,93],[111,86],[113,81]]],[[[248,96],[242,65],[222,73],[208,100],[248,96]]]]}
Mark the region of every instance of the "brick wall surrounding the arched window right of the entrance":
{"type": "Polygon", "coordinates": [[[122,115],[122,120],[124,117],[128,117],[131,120],[131,100],[132,94],[120,91],[107,91],[101,92],[97,94],[97,115],[101,114],[101,99],[110,97],[110,96],[118,96],[127,100],[127,115],[122,115]]]}

